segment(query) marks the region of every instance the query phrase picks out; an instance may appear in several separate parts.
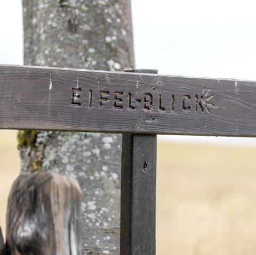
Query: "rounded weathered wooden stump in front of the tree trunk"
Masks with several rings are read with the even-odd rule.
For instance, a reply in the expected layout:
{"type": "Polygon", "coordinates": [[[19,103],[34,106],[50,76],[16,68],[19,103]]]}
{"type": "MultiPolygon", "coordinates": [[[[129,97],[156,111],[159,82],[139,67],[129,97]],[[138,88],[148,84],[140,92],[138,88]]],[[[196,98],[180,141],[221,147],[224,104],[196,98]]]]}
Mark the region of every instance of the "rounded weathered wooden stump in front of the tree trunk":
{"type": "Polygon", "coordinates": [[[20,175],[7,206],[10,255],[80,254],[81,196],[73,178],[46,172],[20,175]]]}

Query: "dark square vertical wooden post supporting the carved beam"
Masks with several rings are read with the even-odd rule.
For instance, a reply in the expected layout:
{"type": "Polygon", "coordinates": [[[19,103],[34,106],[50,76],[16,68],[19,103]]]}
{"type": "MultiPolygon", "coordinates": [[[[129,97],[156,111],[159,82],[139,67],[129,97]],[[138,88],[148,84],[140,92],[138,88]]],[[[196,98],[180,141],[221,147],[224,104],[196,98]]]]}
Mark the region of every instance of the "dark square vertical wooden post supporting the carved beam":
{"type": "Polygon", "coordinates": [[[156,135],[123,134],[120,254],[155,255],[155,220],[156,135]]]}

